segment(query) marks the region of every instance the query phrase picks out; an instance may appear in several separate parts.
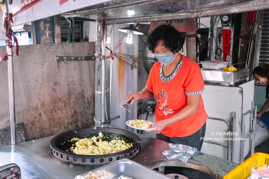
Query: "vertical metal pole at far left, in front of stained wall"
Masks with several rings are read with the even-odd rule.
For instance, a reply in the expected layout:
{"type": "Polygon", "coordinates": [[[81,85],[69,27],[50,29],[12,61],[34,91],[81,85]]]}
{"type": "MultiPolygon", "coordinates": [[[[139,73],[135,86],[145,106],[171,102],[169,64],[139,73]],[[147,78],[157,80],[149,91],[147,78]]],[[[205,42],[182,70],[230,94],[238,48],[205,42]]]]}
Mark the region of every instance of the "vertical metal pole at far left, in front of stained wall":
{"type": "MultiPolygon", "coordinates": [[[[11,40],[10,40],[11,41],[11,40]]],[[[8,55],[12,55],[12,48],[6,46],[8,55]]],[[[10,115],[10,134],[11,145],[15,145],[16,140],[16,119],[14,101],[14,78],[13,78],[13,57],[8,56],[8,90],[9,90],[9,115],[10,115]]]]}

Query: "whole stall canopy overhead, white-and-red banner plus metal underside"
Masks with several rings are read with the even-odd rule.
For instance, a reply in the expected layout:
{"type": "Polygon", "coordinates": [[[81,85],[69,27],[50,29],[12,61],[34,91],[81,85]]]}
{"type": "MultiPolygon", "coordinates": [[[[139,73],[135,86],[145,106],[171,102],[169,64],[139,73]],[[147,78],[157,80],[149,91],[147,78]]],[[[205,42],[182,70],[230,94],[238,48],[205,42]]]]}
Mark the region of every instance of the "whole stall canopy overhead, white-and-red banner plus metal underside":
{"type": "Polygon", "coordinates": [[[61,14],[101,20],[106,25],[199,18],[268,9],[264,0],[35,0],[8,5],[14,25],[61,14]],[[34,3],[36,2],[36,3],[34,3]],[[33,6],[29,6],[32,3],[33,6]]]}

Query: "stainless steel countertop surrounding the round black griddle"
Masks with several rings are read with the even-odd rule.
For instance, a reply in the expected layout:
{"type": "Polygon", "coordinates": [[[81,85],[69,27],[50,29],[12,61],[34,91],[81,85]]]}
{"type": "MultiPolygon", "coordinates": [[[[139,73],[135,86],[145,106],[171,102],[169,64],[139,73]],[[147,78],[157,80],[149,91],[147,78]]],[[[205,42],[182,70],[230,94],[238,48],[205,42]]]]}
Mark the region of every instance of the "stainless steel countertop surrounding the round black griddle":
{"type": "MultiPolygon", "coordinates": [[[[100,125],[98,126],[100,127],[100,125]]],[[[102,127],[115,127],[109,124],[102,127]]],[[[136,133],[137,134],[137,133],[136,133]]],[[[169,150],[168,142],[151,138],[142,134],[140,137],[140,151],[131,160],[142,165],[155,160],[166,159],[162,152],[169,150]]],[[[0,166],[16,163],[22,178],[75,178],[78,174],[93,170],[100,165],[65,164],[51,154],[49,142],[54,136],[23,142],[14,146],[0,148],[0,166]]]]}

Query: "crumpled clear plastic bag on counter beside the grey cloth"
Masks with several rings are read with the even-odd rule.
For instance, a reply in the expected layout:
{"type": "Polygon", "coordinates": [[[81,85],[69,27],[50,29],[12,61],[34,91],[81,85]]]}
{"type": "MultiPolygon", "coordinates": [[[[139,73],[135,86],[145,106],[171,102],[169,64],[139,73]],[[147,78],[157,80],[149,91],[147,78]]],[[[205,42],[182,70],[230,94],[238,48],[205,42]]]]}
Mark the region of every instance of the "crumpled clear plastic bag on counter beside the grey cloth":
{"type": "Polygon", "coordinates": [[[190,157],[196,156],[199,153],[197,148],[192,148],[188,145],[170,143],[169,147],[172,150],[162,152],[162,154],[169,160],[179,159],[180,161],[187,163],[190,157]]]}

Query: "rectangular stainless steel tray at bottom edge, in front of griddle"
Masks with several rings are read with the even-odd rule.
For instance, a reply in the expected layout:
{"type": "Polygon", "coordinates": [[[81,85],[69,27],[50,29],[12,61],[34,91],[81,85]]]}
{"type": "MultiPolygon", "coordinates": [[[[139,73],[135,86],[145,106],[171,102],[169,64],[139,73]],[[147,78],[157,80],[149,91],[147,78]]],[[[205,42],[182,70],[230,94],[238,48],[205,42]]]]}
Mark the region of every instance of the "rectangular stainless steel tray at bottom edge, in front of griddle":
{"type": "MultiPolygon", "coordinates": [[[[129,160],[129,159],[121,159],[116,162],[109,163],[97,169],[91,170],[91,172],[99,171],[102,169],[105,171],[108,171],[109,173],[113,173],[118,177],[121,175],[124,175],[127,177],[131,177],[133,179],[140,179],[140,178],[169,179],[169,177],[165,176],[164,174],[161,174],[155,170],[145,167],[139,163],[133,162],[132,160],[129,160]]],[[[86,172],[84,174],[87,174],[87,173],[89,172],[86,172]]],[[[81,174],[81,175],[84,175],[84,174],[81,174]]]]}

